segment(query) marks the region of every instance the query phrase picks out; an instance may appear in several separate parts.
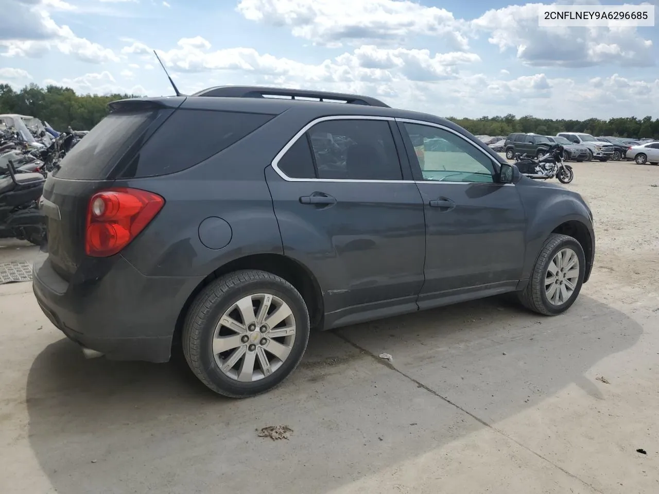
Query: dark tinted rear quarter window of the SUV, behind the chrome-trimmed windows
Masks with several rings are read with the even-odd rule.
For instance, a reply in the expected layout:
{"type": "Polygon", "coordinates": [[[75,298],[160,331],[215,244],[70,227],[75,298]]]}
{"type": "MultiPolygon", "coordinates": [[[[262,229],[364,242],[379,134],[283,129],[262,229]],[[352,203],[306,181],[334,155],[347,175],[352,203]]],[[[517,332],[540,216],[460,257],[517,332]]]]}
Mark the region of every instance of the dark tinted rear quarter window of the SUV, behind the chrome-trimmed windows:
{"type": "Polygon", "coordinates": [[[274,115],[179,109],[165,121],[119,174],[154,177],[188,169],[225,150],[274,115]]]}

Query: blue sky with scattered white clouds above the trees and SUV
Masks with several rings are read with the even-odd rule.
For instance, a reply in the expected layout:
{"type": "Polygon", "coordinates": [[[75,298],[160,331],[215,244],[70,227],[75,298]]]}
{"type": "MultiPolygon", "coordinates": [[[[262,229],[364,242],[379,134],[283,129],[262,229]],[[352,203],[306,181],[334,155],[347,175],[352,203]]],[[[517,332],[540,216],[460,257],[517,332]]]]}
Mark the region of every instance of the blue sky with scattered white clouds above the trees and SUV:
{"type": "Polygon", "coordinates": [[[539,5],[0,0],[0,82],[171,95],[156,49],[184,94],[250,84],[366,94],[442,117],[659,117],[659,20],[546,28],[539,5]]]}

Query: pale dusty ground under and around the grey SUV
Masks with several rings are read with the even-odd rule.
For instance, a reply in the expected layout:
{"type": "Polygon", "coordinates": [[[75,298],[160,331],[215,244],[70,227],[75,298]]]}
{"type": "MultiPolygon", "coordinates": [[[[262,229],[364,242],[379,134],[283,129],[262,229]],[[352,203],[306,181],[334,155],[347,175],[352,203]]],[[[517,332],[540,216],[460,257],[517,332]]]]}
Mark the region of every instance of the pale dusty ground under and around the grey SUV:
{"type": "Polygon", "coordinates": [[[0,286],[0,493],[659,492],[659,167],[573,167],[598,238],[567,314],[491,298],[316,334],[249,400],[84,360],[30,283],[0,286]]]}

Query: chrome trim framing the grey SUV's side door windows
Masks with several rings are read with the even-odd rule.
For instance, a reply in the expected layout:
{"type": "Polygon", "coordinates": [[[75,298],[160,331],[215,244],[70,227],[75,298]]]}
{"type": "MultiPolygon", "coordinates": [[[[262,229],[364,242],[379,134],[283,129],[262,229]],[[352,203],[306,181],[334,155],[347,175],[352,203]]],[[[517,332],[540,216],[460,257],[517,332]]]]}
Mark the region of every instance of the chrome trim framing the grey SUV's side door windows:
{"type": "MultiPolygon", "coordinates": [[[[379,115],[329,115],[328,117],[318,117],[317,119],[310,121],[308,124],[302,127],[301,130],[299,130],[295,134],[295,136],[293,136],[293,138],[291,138],[291,140],[289,140],[289,142],[287,142],[287,144],[283,148],[281,148],[281,151],[279,151],[277,155],[275,155],[270,165],[277,173],[277,175],[279,175],[279,177],[283,178],[287,182],[354,182],[354,183],[374,183],[374,184],[451,184],[451,185],[493,184],[500,186],[515,185],[515,184],[498,184],[497,182],[449,182],[449,181],[444,182],[441,180],[360,180],[355,178],[293,178],[283,173],[283,171],[279,169],[278,166],[279,161],[281,160],[283,155],[285,155],[288,152],[288,150],[293,147],[293,144],[295,144],[297,140],[301,138],[302,135],[304,135],[304,132],[306,132],[307,130],[312,128],[312,126],[318,123],[332,121],[332,120],[376,120],[376,121],[386,121],[386,122],[401,122],[401,123],[411,123],[418,125],[428,125],[431,127],[436,127],[442,130],[446,130],[447,132],[451,132],[456,136],[459,136],[460,138],[465,140],[465,142],[467,142],[468,144],[471,144],[471,146],[473,146],[471,141],[462,134],[460,134],[459,132],[455,132],[455,130],[451,128],[433,122],[426,122],[422,120],[413,120],[413,119],[397,119],[394,117],[380,117],[379,115]]],[[[474,146],[474,148],[481,151],[486,157],[488,157],[490,160],[494,162],[492,156],[490,156],[484,150],[478,148],[478,146],[474,146]]]]}

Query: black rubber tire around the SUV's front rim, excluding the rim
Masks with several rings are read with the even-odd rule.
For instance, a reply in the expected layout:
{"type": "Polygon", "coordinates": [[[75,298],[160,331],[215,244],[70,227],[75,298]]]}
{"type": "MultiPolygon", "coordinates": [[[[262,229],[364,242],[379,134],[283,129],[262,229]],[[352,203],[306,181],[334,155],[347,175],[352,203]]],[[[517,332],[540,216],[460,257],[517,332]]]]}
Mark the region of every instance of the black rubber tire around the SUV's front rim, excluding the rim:
{"type": "Polygon", "coordinates": [[[583,253],[581,244],[571,236],[552,233],[544,242],[544,246],[542,246],[540,256],[538,256],[533,267],[529,284],[524,290],[517,293],[517,298],[519,299],[519,302],[529,310],[538,312],[539,314],[544,314],[544,316],[558,316],[558,314],[562,314],[569,309],[572,304],[574,304],[575,300],[577,300],[579,292],[581,291],[581,286],[583,285],[585,272],[586,257],[583,253]],[[575,290],[572,292],[571,296],[569,296],[567,301],[561,305],[554,305],[547,298],[544,289],[544,281],[546,279],[547,269],[554,259],[554,256],[556,256],[559,250],[566,247],[571,248],[571,250],[577,254],[577,258],[579,259],[579,278],[577,279],[575,290]]]}

